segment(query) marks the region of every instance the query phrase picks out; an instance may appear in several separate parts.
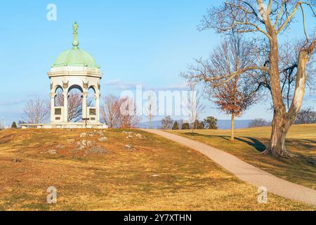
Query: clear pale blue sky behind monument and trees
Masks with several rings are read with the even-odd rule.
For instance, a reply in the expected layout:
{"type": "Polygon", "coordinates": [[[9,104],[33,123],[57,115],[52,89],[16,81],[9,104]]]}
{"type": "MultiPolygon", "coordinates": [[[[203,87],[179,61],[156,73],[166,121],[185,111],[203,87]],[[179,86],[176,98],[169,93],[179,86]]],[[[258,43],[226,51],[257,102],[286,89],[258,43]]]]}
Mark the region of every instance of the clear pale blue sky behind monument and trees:
{"type": "MultiPolygon", "coordinates": [[[[72,46],[74,21],[79,23],[79,47],[96,58],[105,74],[103,96],[119,94],[122,86],[134,84],[147,89],[183,86],[179,73],[193,58],[206,58],[220,43],[221,37],[213,31],[197,31],[206,9],[219,2],[2,1],[0,120],[20,120],[27,99],[48,98],[50,81],[46,73],[55,58],[72,46]],[[46,20],[50,3],[57,6],[57,21],[46,20]]],[[[296,34],[285,35],[292,38],[296,34]]],[[[306,99],[306,104],[315,104],[312,97],[306,99]]],[[[229,118],[205,103],[204,115],[229,118]]],[[[242,119],[270,120],[268,105],[254,106],[242,119]]]]}

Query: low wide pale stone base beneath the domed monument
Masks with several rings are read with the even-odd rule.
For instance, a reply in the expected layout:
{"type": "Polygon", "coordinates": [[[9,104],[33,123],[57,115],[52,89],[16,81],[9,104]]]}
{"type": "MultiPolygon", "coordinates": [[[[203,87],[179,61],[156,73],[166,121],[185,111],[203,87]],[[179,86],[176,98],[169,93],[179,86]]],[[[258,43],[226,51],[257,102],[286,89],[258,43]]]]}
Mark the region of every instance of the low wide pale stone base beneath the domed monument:
{"type": "Polygon", "coordinates": [[[21,124],[22,129],[108,129],[105,124],[86,124],[81,122],[60,124],[21,124]]]}

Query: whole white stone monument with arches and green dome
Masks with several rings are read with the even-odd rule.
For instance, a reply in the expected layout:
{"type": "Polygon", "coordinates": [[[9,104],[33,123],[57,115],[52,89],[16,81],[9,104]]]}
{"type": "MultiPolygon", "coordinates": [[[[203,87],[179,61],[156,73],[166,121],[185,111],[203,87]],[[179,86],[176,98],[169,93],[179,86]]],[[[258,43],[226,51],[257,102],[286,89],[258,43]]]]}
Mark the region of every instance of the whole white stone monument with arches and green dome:
{"type": "Polygon", "coordinates": [[[23,128],[107,128],[105,124],[100,123],[100,79],[103,73],[96,60],[86,51],[79,49],[78,27],[77,23],[74,23],[72,49],[62,52],[48,72],[51,79],[51,124],[25,124],[23,128]],[[72,89],[81,92],[79,102],[82,102],[82,118],[79,122],[69,121],[68,98],[72,89]],[[87,102],[88,91],[91,89],[94,93],[93,106],[87,102]],[[57,94],[58,90],[62,92],[60,96],[57,94]],[[57,101],[58,98],[60,102],[60,97],[62,105],[57,101]]]}

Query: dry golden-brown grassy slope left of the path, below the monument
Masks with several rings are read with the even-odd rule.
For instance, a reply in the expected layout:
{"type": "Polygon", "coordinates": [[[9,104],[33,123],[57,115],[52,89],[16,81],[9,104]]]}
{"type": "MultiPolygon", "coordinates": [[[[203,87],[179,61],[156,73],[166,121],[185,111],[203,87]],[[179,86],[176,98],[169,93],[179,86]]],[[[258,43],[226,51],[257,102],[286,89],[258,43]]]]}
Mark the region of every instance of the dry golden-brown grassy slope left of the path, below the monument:
{"type": "Polygon", "coordinates": [[[275,195],[258,204],[253,186],[143,131],[135,132],[145,140],[126,140],[122,130],[104,131],[107,142],[85,138],[109,151],[86,155],[76,144],[83,131],[0,131],[0,210],[315,210],[275,195]],[[127,143],[135,149],[126,150],[127,143]],[[45,153],[51,148],[58,154],[45,153]],[[57,205],[46,203],[49,186],[58,190],[57,205]]]}

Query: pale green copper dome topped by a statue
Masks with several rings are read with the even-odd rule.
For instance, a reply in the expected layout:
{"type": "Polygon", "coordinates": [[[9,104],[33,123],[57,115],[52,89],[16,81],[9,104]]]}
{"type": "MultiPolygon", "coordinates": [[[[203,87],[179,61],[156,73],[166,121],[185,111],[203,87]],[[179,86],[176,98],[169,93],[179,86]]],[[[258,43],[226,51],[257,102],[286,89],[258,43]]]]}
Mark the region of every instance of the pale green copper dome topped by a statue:
{"type": "Polygon", "coordinates": [[[79,49],[79,41],[78,41],[78,25],[74,23],[74,41],[72,41],[72,49],[62,52],[52,68],[59,68],[63,66],[78,66],[78,67],[88,67],[88,68],[100,68],[100,66],[96,65],[96,60],[87,53],[86,51],[79,49]]]}

